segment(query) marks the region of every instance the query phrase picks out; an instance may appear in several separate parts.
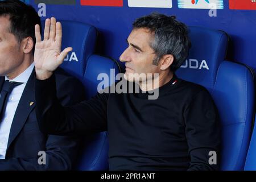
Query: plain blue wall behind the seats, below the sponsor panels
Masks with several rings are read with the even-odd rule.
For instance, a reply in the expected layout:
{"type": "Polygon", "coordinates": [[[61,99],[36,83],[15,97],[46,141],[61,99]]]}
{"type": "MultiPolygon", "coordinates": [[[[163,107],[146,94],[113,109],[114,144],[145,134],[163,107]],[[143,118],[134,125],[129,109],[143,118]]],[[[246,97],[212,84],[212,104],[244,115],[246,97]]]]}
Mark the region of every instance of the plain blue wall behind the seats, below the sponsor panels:
{"type": "MultiPolygon", "coordinates": [[[[190,0],[188,0],[190,1],[190,0]]],[[[34,1],[30,4],[38,11],[34,1]]],[[[176,15],[177,19],[193,26],[205,26],[223,30],[230,36],[227,59],[245,63],[256,70],[256,10],[230,10],[229,1],[224,0],[224,9],[217,10],[217,17],[210,17],[209,10],[179,9],[177,1],[172,0],[172,8],[128,7],[123,0],[123,7],[81,6],[76,5],[46,5],[46,17],[75,20],[95,26],[100,32],[96,53],[113,57],[119,56],[126,48],[125,39],[131,31],[131,24],[139,16],[158,11],[166,15],[176,15]]],[[[204,47],[199,47],[204,51],[204,47]]]]}

